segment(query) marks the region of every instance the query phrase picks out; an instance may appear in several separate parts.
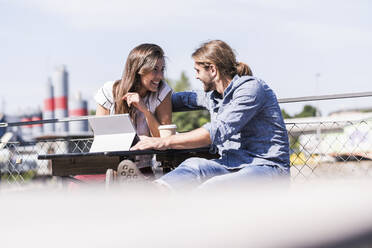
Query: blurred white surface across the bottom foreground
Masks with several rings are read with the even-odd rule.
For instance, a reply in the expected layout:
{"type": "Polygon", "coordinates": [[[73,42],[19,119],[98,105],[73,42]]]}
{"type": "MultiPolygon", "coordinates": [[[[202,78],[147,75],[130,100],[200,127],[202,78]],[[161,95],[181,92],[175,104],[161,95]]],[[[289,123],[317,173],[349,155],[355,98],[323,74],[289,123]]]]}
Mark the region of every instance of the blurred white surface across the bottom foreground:
{"type": "Polygon", "coordinates": [[[1,194],[1,247],[370,247],[372,182],[252,182],[215,191],[153,185],[1,194]]]}

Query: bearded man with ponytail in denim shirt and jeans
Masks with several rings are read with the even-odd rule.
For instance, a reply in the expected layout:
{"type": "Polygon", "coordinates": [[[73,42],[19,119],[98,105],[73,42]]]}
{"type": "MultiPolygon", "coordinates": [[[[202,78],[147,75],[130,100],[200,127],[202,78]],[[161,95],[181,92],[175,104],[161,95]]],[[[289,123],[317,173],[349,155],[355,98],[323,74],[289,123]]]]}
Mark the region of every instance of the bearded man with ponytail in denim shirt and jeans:
{"type": "Polygon", "coordinates": [[[219,159],[190,158],[156,182],[169,188],[226,185],[289,175],[288,135],[274,92],[236,62],[225,42],[202,44],[193,54],[204,91],[173,95],[173,105],[210,111],[210,123],[166,138],[145,138],[132,150],[188,149],[210,145],[219,159]]]}

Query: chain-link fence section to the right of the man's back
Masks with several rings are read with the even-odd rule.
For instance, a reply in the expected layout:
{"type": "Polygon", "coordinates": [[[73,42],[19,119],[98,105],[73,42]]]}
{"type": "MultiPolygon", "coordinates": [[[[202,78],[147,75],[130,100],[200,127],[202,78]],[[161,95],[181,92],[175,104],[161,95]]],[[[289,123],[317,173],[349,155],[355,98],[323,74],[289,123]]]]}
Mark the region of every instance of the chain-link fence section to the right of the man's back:
{"type": "Polygon", "coordinates": [[[292,181],[372,175],[372,119],[286,123],[292,181]]]}

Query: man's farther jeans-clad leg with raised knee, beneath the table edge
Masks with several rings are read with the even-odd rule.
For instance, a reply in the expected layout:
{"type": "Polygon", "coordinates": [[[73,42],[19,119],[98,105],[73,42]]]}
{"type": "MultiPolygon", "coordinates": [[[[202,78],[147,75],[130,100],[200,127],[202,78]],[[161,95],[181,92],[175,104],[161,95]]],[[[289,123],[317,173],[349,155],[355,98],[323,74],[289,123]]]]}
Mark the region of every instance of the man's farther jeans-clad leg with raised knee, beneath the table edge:
{"type": "Polygon", "coordinates": [[[214,176],[229,173],[220,162],[219,159],[189,158],[155,182],[175,190],[200,185],[214,176]]]}

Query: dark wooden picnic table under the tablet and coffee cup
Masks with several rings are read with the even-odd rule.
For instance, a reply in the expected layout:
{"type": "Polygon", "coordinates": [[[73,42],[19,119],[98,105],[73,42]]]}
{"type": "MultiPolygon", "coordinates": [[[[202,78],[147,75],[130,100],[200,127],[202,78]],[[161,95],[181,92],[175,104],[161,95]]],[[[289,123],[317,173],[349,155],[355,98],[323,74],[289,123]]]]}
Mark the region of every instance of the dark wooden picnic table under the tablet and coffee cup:
{"type": "Polygon", "coordinates": [[[161,163],[163,173],[177,167],[181,162],[190,157],[203,157],[207,159],[218,158],[218,154],[209,152],[209,147],[196,149],[169,149],[169,150],[137,150],[137,151],[112,151],[112,152],[85,152],[65,154],[39,155],[40,160],[51,160],[52,175],[68,177],[75,175],[105,174],[108,169],[116,170],[124,159],[135,161],[137,155],[154,155],[161,163]]]}

